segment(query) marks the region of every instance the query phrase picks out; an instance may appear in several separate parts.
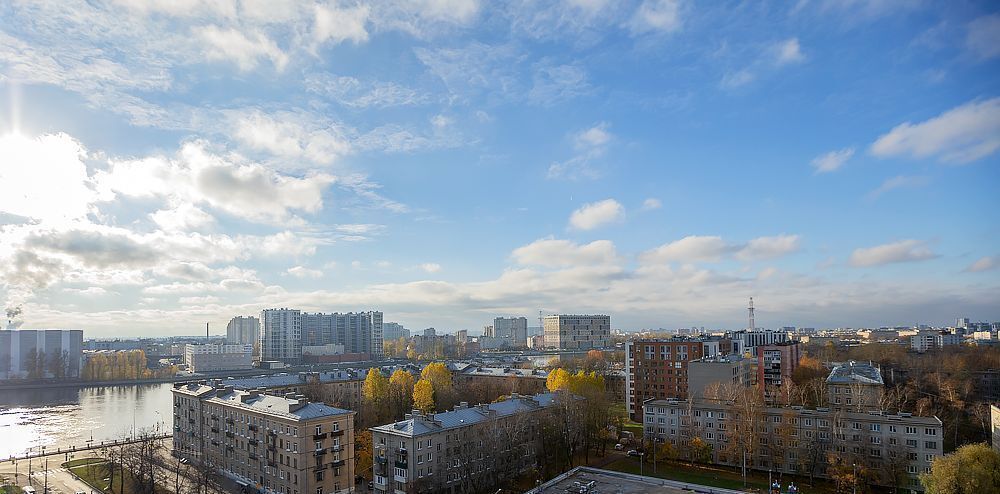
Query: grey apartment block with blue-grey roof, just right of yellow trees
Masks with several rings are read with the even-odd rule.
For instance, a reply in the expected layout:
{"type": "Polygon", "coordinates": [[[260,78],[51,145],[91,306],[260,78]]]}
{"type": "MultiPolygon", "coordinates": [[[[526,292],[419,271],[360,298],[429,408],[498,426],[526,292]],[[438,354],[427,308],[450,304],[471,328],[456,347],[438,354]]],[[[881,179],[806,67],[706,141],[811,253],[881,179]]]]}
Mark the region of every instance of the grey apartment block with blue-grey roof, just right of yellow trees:
{"type": "Polygon", "coordinates": [[[481,492],[536,462],[537,412],[556,395],[512,394],[488,405],[421,414],[373,427],[376,493],[481,492]]]}

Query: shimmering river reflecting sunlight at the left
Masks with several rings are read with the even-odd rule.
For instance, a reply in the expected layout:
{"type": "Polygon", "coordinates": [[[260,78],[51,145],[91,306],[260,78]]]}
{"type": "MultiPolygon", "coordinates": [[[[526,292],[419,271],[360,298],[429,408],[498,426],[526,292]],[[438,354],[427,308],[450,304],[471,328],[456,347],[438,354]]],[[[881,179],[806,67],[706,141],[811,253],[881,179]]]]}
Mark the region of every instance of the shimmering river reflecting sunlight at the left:
{"type": "Polygon", "coordinates": [[[171,383],[0,391],[0,459],[172,427],[171,383]]]}

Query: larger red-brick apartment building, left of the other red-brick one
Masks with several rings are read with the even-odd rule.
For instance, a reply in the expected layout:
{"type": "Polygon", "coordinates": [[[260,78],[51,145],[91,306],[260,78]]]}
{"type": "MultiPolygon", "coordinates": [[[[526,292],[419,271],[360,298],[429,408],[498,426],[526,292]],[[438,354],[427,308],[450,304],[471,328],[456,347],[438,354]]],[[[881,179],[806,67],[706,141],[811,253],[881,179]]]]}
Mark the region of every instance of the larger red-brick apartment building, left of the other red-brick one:
{"type": "Polygon", "coordinates": [[[642,420],[649,399],[687,398],[688,363],[704,356],[703,338],[635,340],[625,343],[625,407],[642,420]]]}

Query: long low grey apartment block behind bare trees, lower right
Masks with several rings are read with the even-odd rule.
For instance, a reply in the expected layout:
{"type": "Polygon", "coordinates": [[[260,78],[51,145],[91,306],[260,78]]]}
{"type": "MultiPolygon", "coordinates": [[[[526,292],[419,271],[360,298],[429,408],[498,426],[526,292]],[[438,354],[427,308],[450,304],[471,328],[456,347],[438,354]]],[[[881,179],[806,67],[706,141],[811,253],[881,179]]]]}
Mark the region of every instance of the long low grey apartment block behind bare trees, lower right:
{"type": "Polygon", "coordinates": [[[941,420],[906,413],[764,408],[748,421],[727,404],[674,399],[646,402],[643,412],[645,437],[678,448],[698,437],[716,464],[742,465],[748,452],[748,468],[826,477],[834,458],[858,465],[867,483],[914,491],[944,447],[941,420]]]}

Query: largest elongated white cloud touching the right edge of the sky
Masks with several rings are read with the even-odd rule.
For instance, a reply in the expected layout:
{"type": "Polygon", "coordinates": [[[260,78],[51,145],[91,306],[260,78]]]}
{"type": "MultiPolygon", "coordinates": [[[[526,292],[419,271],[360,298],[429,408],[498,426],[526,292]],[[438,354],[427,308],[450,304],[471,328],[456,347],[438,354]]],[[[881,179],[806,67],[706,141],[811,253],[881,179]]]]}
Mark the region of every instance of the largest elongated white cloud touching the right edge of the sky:
{"type": "Polygon", "coordinates": [[[902,123],[871,146],[880,158],[937,156],[945,163],[969,163],[1000,148],[1000,98],[972,101],[930,120],[902,123]]]}

